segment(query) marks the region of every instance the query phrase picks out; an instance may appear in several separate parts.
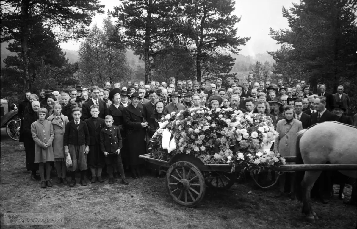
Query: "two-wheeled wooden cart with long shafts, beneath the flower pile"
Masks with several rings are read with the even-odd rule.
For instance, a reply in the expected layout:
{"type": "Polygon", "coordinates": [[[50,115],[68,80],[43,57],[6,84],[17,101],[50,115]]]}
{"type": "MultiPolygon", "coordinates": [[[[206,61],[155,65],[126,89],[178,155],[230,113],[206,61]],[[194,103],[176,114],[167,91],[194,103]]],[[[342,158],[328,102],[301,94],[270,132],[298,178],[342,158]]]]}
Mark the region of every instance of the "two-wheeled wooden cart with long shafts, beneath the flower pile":
{"type": "MultiPolygon", "coordinates": [[[[168,161],[150,158],[144,154],[139,158],[159,165],[166,172],[166,189],[176,203],[187,207],[196,206],[205,196],[206,186],[215,189],[228,189],[237,179],[231,173],[231,165],[205,164],[201,158],[189,154],[175,154],[168,161]]],[[[295,162],[295,157],[285,157],[287,162],[295,162]]],[[[306,170],[357,170],[357,165],[281,165],[279,171],[306,170]]]]}

